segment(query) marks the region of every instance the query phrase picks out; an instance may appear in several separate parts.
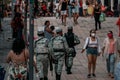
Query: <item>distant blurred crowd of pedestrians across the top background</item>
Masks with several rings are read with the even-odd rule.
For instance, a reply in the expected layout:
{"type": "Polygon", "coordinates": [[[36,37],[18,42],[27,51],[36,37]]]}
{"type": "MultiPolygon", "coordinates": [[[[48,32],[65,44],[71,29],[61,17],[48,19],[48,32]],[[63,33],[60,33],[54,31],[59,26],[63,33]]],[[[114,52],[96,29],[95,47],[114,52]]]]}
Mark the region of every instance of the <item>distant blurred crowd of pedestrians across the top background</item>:
{"type": "MultiPolygon", "coordinates": [[[[16,0],[15,5],[13,5],[14,15],[19,12],[22,14],[22,17],[24,17],[23,14],[25,11],[27,11],[29,15],[30,8],[27,5],[26,1],[16,0]]],[[[101,29],[101,22],[105,21],[105,16],[119,16],[119,9],[115,7],[113,7],[113,11],[108,9],[109,7],[104,6],[101,0],[52,0],[51,2],[35,0],[34,17],[56,16],[56,18],[61,19],[61,23],[66,26],[67,17],[73,17],[74,24],[78,24],[79,16],[91,16],[95,19],[95,30],[98,30],[101,29]],[[115,12],[116,10],[117,13],[115,12]]],[[[7,12],[9,13],[9,11],[9,8],[6,6],[4,10],[5,14],[7,12]]],[[[2,31],[1,26],[0,30],[2,31]]]]}

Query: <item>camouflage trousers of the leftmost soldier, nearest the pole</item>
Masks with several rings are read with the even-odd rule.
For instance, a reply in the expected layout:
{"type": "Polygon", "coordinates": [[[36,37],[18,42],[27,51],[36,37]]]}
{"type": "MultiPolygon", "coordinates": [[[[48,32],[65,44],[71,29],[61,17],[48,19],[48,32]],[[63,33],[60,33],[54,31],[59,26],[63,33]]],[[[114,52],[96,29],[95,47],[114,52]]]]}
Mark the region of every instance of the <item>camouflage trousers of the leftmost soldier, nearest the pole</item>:
{"type": "Polygon", "coordinates": [[[38,69],[39,78],[47,77],[48,75],[48,67],[49,67],[49,59],[47,55],[37,55],[36,63],[38,69]]]}

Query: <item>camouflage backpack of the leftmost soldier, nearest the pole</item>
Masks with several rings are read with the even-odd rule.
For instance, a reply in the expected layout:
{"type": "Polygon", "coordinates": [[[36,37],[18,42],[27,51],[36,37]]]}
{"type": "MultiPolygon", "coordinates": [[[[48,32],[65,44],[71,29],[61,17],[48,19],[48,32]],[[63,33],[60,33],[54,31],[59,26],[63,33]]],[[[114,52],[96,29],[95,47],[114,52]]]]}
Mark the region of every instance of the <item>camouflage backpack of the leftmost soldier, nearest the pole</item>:
{"type": "Polygon", "coordinates": [[[48,53],[48,40],[40,38],[35,41],[35,53],[48,53]]]}

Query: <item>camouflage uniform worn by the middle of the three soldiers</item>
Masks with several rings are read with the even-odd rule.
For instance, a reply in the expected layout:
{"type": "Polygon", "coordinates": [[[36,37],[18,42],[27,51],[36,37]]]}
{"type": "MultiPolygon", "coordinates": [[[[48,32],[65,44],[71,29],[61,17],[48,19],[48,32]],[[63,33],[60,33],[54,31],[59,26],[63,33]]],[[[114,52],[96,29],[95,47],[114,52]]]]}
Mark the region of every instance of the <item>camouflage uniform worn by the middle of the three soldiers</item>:
{"type": "Polygon", "coordinates": [[[50,53],[51,53],[51,56],[53,58],[53,61],[55,63],[55,73],[56,73],[56,80],[60,80],[60,76],[61,76],[61,73],[62,73],[62,68],[63,68],[63,64],[64,64],[64,60],[65,60],[65,54],[66,52],[69,52],[69,48],[68,48],[68,44],[66,42],[66,39],[65,37],[61,36],[61,35],[57,35],[56,37],[53,37],[49,43],[49,48],[50,48],[50,53]],[[54,49],[54,41],[56,39],[60,39],[63,41],[63,44],[64,45],[64,50],[55,50],[54,49]]]}

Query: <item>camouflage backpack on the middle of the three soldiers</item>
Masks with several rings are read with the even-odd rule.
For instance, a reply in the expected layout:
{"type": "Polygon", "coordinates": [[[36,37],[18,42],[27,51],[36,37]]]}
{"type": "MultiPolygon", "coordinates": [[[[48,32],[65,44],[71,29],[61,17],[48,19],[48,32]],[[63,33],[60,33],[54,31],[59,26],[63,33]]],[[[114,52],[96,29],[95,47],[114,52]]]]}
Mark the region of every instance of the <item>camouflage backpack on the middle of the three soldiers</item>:
{"type": "Polygon", "coordinates": [[[53,50],[54,51],[64,51],[64,41],[62,37],[55,37],[53,38],[53,50]]]}

